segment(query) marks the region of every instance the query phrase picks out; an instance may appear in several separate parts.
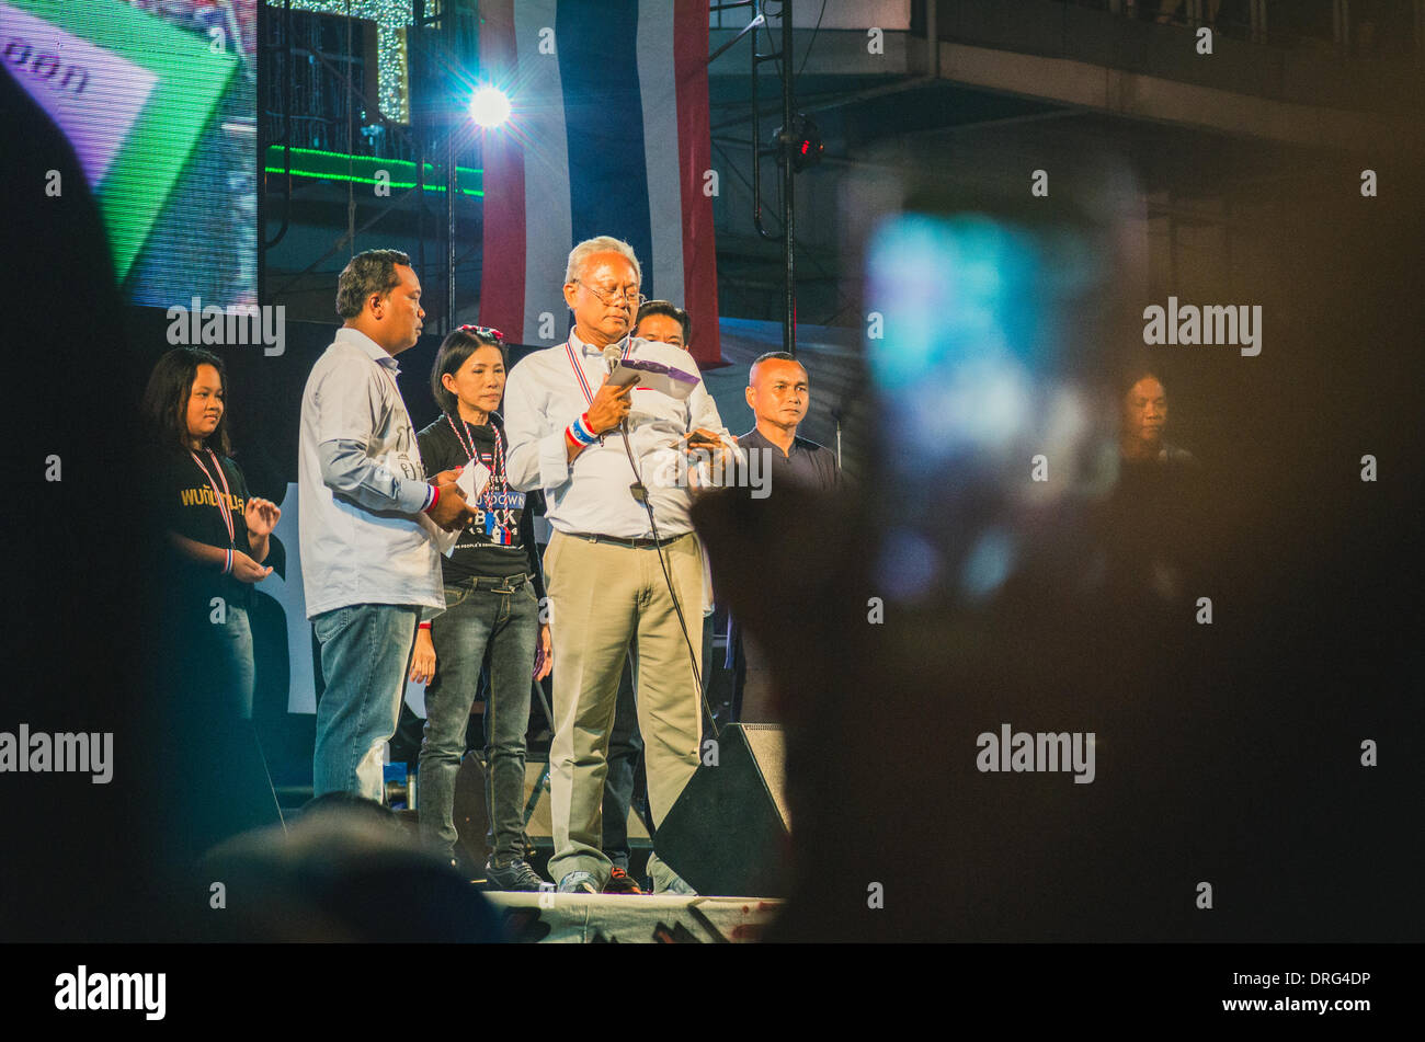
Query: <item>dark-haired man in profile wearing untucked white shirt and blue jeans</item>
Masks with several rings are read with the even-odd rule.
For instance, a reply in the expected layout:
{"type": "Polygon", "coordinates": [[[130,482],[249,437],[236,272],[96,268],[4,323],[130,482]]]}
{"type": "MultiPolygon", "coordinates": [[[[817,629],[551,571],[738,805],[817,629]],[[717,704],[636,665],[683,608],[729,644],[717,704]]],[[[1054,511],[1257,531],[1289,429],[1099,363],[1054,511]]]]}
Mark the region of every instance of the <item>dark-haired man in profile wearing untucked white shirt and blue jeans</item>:
{"type": "Polygon", "coordinates": [[[426,481],[396,386],[395,356],[415,346],[425,319],[410,258],[353,256],[336,313],[346,325],[306,379],[298,447],[302,585],[326,683],[312,790],[379,801],[416,625],[445,611],[435,541],[473,512],[455,471],[426,481]]]}

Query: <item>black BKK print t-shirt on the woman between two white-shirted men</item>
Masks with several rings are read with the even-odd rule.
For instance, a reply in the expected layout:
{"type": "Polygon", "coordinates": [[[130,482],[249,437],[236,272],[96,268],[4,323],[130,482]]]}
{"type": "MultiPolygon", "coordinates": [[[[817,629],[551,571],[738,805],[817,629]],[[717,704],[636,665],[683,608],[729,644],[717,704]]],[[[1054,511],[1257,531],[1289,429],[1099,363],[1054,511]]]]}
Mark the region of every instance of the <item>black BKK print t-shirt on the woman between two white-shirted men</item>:
{"type": "Polygon", "coordinates": [[[479,501],[470,504],[477,511],[475,524],[460,532],[455,551],[440,558],[445,582],[453,585],[475,577],[503,578],[527,572],[534,575],[536,595],[543,596],[544,584],[534,547],[534,515],[543,512],[544,498],[539,493],[516,491],[500,481],[499,474],[504,470],[503,451],[509,448],[500,417],[492,414],[490,423],[476,427],[459,416],[442,414],[416,434],[416,441],[420,444],[420,461],[426,474],[465,467],[470,461],[472,443],[479,461],[492,471],[479,501]]]}

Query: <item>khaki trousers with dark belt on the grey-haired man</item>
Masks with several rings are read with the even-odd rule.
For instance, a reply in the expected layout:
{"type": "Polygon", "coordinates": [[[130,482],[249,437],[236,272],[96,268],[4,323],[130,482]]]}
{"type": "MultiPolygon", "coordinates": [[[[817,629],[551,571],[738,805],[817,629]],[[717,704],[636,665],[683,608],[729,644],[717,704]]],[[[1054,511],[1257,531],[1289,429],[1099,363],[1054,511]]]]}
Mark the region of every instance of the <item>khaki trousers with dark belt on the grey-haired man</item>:
{"type": "MultiPolygon", "coordinates": [[[[688,532],[663,548],[693,655],[703,669],[703,552],[688,532]]],[[[601,887],[611,864],[603,846],[604,777],[618,678],[636,643],[634,690],[648,776],[648,810],[657,827],[698,766],[701,696],[688,641],[668,595],[658,551],[636,549],[556,531],[544,551],[554,645],[554,740],[550,747],[550,807],[556,883],[587,871],[601,887]]],[[[671,871],[648,861],[654,888],[671,871]]]]}

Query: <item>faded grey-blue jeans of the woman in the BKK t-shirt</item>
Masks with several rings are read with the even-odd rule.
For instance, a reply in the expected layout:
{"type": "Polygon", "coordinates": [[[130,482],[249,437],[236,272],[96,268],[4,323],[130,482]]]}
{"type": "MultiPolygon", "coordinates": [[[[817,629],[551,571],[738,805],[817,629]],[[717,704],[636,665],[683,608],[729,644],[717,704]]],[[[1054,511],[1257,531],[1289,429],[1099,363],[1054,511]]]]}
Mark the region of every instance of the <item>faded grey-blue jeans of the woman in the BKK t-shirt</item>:
{"type": "Polygon", "coordinates": [[[524,732],[534,680],[539,601],[526,579],[467,579],[445,589],[446,609],[430,623],[436,675],[426,688],[426,737],[420,743],[420,836],[455,853],[455,779],[465,732],[489,658],[484,706],[484,809],[490,856],[499,864],[524,857],[524,732]]]}

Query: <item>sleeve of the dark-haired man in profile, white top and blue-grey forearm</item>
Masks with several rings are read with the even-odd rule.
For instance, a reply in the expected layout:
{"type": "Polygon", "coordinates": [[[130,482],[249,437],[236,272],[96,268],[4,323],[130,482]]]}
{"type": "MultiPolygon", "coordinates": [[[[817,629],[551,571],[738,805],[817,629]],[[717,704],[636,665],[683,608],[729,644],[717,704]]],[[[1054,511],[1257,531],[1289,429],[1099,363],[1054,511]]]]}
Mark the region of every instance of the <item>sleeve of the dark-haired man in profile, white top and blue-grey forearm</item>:
{"type": "Polygon", "coordinates": [[[333,369],[315,389],[322,483],[366,510],[416,514],[430,502],[430,485],[398,477],[368,453],[383,409],[378,377],[333,369]]]}

